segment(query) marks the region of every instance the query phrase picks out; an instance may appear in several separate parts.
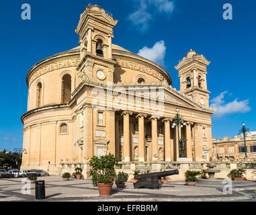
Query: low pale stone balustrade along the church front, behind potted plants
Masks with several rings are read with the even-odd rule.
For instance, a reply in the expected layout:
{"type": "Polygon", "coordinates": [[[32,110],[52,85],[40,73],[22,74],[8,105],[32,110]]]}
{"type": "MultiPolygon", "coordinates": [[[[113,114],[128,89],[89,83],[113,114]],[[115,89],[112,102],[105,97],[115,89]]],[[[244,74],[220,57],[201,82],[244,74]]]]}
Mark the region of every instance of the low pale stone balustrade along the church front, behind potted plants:
{"type": "MultiPolygon", "coordinates": [[[[144,161],[144,162],[119,162],[116,165],[116,172],[124,171],[128,173],[128,181],[134,178],[134,171],[139,170],[140,173],[146,173],[147,171],[158,172],[158,171],[169,171],[172,169],[178,169],[179,175],[172,175],[168,177],[169,181],[184,181],[184,173],[187,170],[200,171],[202,169],[208,169],[207,165],[216,165],[214,169],[220,169],[220,173],[216,173],[216,178],[228,179],[226,175],[232,170],[237,168],[246,169],[245,177],[248,180],[253,180],[253,175],[256,175],[256,162],[255,161],[204,161],[204,162],[168,162],[168,161],[144,161]],[[254,173],[253,173],[254,172],[254,173]]],[[[74,173],[75,168],[85,167],[83,163],[60,163],[58,175],[69,172],[74,173]]],[[[89,178],[89,171],[83,171],[85,178],[89,178]]]]}

